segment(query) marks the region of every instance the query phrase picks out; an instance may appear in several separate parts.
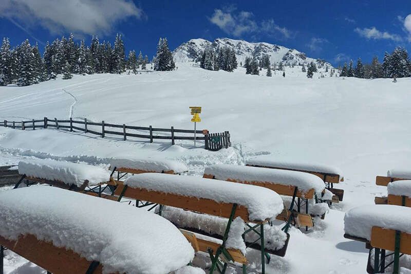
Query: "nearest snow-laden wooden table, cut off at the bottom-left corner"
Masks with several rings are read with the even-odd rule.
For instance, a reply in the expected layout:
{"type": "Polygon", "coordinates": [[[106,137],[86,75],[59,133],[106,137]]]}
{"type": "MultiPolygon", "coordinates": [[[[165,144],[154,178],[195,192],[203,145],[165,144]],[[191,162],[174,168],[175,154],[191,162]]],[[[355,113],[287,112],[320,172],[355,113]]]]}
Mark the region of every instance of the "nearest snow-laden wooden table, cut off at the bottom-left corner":
{"type": "Polygon", "coordinates": [[[152,268],[165,274],[194,257],[191,245],[172,223],[145,210],[46,186],[3,191],[0,200],[4,232],[0,234],[0,273],[6,249],[55,274],[103,273],[106,267],[110,273],[152,268]],[[84,210],[87,206],[100,211],[90,214],[84,210]],[[169,244],[164,245],[165,241],[169,244]],[[136,253],[130,255],[130,250],[136,253]],[[158,254],[159,260],[145,252],[158,254]]]}

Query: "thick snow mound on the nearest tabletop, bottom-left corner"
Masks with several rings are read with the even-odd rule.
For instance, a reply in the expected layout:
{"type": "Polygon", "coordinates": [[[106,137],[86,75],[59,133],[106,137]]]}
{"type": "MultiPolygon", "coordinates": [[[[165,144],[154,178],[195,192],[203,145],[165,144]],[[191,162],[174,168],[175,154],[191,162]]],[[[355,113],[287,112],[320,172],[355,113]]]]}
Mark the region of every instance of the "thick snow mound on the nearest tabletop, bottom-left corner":
{"type": "Polygon", "coordinates": [[[0,200],[4,238],[33,234],[99,261],[105,273],[169,273],[194,257],[173,224],[142,209],[48,186],[3,191],[0,200]]]}

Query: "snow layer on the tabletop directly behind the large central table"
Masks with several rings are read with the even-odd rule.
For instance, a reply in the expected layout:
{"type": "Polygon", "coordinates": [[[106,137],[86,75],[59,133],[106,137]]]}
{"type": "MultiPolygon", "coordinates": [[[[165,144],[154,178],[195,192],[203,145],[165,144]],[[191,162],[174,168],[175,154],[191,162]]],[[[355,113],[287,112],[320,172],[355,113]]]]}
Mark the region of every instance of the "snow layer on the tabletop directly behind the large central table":
{"type": "Polygon", "coordinates": [[[314,189],[321,197],[324,181],[319,177],[300,171],[263,169],[237,165],[213,165],[206,167],[204,174],[214,175],[218,180],[233,179],[240,182],[258,181],[272,184],[295,186],[302,192],[314,189]]]}

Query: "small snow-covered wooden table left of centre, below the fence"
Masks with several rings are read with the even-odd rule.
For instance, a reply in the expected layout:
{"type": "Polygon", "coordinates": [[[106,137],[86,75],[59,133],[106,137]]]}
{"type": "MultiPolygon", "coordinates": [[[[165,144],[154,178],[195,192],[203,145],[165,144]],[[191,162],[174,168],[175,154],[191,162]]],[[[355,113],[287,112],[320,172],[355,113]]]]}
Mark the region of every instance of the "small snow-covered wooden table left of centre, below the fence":
{"type": "Polygon", "coordinates": [[[110,160],[110,170],[112,172],[111,174],[117,171],[117,179],[120,180],[127,173],[140,174],[155,172],[181,174],[187,172],[188,168],[184,163],[175,160],[151,157],[114,157],[110,160]]]}

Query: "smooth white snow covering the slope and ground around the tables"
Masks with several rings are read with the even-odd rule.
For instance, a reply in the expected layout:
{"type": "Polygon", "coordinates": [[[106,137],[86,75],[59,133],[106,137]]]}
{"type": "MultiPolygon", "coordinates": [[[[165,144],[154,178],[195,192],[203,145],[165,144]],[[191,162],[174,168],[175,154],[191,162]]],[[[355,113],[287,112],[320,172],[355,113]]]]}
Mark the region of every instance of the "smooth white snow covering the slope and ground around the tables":
{"type": "MultiPolygon", "coordinates": [[[[188,166],[189,175],[202,176],[206,166],[245,165],[261,155],[278,161],[326,163],[344,172],[344,182],[334,185],[345,191],[344,200],[332,204],[325,220],[315,221],[308,233],[290,229],[286,257],[271,260],[267,273],[364,273],[368,250],[363,243],[343,238],[344,213],[373,205],[376,196],[386,194],[386,187],[375,184],[381,171],[411,166],[411,78],[393,83],[392,79],[320,79],[320,73],[315,73],[307,79],[301,66],[285,67],[283,78],[278,71],[266,77],[265,69],[260,76],[252,76],[245,75],[242,67],[229,73],[203,70],[193,63],[176,65],[175,71],[137,76],[74,75],[70,80],[59,76],[32,86],[0,86],[0,121],[68,118],[74,99],[64,88],[78,100],[73,119],[94,122],[193,129],[189,106],[202,106],[197,128],[230,131],[232,148],[211,152],[203,149],[202,141],[194,148],[192,141],[184,140],[171,145],[171,140],[150,143],[130,137],[123,141],[108,134],[101,138],[82,132],[0,126],[0,164],[52,158],[108,168],[111,157],[133,154],[178,160],[188,166]]],[[[100,132],[101,127],[95,130],[100,132]]],[[[258,272],[259,254],[248,253],[249,272],[258,272]]],[[[195,265],[210,266],[203,261],[196,260],[195,265]]],[[[6,250],[5,274],[26,263],[6,250]]],[[[34,271],[32,267],[30,273],[34,271]]]]}

